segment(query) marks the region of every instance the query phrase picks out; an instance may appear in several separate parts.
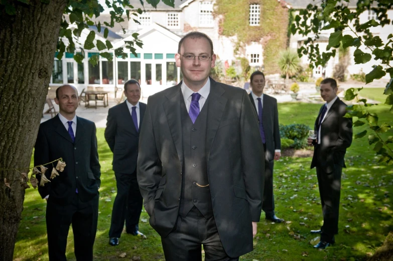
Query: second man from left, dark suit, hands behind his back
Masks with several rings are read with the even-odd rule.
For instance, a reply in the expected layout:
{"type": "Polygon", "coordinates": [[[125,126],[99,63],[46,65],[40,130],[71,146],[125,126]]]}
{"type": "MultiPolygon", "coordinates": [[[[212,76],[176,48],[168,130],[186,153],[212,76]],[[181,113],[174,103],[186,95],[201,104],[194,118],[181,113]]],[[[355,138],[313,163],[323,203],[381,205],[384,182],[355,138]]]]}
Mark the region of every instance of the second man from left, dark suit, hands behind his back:
{"type": "Polygon", "coordinates": [[[127,98],[125,102],[109,109],[105,129],[105,140],[113,152],[112,165],[117,186],[109,229],[110,245],[119,244],[124,220],[127,233],[145,237],[138,226],[143,198],[137,181],[137,159],[146,104],[139,102],[141,86],[137,80],[124,83],[124,95],[127,98]]]}

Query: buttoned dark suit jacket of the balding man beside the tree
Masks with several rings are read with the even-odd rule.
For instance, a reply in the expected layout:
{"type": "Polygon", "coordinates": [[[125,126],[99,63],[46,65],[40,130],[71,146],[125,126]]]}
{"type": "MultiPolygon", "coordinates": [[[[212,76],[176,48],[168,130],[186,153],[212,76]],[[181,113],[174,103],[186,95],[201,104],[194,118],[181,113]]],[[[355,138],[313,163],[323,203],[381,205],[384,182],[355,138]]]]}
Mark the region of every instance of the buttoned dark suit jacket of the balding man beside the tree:
{"type": "MultiPolygon", "coordinates": [[[[42,198],[58,204],[68,204],[78,188],[81,201],[91,200],[98,194],[100,186],[100,164],[98,161],[96,128],[94,122],[77,117],[75,143],[72,142],[58,115],[41,123],[34,150],[34,165],[41,165],[63,158],[66,167],[59,176],[49,179],[53,166],[46,165],[46,177],[51,181],[39,186],[42,198]]],[[[41,180],[41,175],[37,175],[41,180]]]]}

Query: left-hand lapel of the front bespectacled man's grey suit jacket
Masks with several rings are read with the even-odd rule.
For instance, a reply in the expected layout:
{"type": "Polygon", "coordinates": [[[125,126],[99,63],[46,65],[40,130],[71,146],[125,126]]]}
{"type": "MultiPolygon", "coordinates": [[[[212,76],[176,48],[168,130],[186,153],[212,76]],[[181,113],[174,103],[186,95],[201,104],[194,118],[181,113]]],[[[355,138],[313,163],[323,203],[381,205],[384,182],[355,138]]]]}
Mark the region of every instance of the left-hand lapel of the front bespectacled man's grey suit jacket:
{"type": "Polygon", "coordinates": [[[181,82],[173,91],[166,95],[167,101],[163,103],[165,115],[169,129],[175,143],[176,152],[178,154],[181,165],[183,166],[183,140],[182,140],[182,121],[180,113],[180,103],[184,102],[182,92],[180,90],[181,82]]]}

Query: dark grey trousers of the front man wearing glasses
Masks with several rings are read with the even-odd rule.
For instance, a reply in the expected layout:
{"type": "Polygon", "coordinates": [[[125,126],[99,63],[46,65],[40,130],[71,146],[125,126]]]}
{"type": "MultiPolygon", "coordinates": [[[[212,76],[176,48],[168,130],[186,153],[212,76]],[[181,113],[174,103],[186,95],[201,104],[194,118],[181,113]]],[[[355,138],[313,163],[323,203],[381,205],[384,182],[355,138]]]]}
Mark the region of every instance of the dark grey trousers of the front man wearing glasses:
{"type": "Polygon", "coordinates": [[[225,253],[214,217],[204,218],[196,207],[184,218],[179,215],[173,231],[161,241],[167,261],[201,261],[202,244],[205,261],[239,260],[225,253]]]}

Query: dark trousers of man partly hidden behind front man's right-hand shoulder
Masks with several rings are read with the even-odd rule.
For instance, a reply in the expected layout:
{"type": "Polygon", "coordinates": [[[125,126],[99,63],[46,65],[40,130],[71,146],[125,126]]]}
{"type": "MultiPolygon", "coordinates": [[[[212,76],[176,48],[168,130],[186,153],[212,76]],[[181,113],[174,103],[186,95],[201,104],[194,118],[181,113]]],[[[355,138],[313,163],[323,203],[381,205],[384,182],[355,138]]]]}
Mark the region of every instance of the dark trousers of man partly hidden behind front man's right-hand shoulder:
{"type": "MultiPolygon", "coordinates": [[[[266,144],[264,144],[266,154],[266,144]]],[[[274,193],[273,193],[273,167],[274,160],[268,161],[265,159],[265,187],[264,199],[262,202],[262,210],[264,210],[267,217],[275,215],[274,212],[274,193]]]]}

